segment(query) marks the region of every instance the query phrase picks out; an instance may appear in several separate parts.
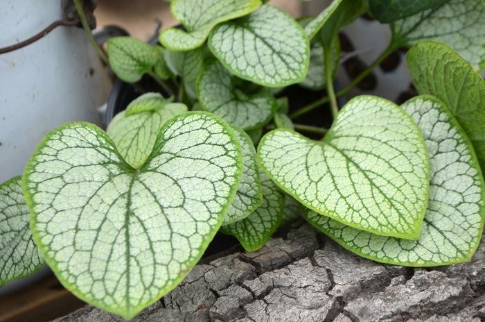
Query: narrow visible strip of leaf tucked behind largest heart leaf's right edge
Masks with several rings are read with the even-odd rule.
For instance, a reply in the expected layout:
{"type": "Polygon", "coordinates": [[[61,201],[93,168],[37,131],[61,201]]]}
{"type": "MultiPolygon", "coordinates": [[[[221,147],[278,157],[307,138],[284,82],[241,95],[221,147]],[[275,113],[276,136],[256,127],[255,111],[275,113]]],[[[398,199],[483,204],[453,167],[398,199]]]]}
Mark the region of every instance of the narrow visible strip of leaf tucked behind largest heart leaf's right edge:
{"type": "Polygon", "coordinates": [[[241,174],[238,192],[234,196],[222,225],[228,225],[246,218],[263,203],[261,179],[256,167],[256,149],[251,138],[240,128],[233,128],[243,151],[243,174],[241,174]]]}

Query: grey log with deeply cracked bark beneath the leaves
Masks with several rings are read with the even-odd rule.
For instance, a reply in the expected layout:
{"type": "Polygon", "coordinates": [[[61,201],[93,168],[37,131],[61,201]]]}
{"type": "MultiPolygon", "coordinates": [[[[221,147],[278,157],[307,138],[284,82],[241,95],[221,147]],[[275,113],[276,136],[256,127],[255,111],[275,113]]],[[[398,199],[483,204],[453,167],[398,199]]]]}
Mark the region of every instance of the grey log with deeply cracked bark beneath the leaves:
{"type": "MultiPolygon", "coordinates": [[[[123,319],[85,306],[55,321],[123,319]]],[[[412,269],[353,255],[305,225],[198,264],[132,321],[485,321],[485,245],[465,264],[412,269]]]]}

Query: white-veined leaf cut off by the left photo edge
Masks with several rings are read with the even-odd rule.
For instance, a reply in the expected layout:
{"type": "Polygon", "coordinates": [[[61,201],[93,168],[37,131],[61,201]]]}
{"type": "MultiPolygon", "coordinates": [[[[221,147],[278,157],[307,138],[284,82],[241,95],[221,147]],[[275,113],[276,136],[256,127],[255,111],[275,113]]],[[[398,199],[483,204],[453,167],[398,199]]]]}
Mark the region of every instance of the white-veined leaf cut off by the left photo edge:
{"type": "Polygon", "coordinates": [[[44,260],[28,226],[30,214],[21,177],[0,185],[0,287],[42,267],[44,260]]]}

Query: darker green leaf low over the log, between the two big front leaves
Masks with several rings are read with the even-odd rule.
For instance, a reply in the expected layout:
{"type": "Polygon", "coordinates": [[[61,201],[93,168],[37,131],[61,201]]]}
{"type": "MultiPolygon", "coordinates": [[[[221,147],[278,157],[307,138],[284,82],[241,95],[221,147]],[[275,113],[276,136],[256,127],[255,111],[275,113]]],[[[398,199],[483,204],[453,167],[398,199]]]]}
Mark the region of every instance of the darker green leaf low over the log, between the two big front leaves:
{"type": "Polygon", "coordinates": [[[284,194],[265,173],[261,173],[263,204],[243,220],[220,228],[221,232],[236,237],[246,251],[263,247],[278,228],[285,207],[284,194]]]}

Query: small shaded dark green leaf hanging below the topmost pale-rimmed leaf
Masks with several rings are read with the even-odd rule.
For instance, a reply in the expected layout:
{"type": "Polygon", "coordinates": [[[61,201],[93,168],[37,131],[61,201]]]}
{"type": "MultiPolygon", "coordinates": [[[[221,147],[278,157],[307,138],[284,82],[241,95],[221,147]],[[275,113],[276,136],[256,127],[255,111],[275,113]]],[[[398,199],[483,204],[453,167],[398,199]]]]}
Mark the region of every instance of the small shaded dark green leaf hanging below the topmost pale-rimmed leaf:
{"type": "Polygon", "coordinates": [[[165,59],[173,74],[182,78],[188,96],[196,97],[197,79],[204,65],[202,49],[193,51],[166,51],[165,59]]]}

